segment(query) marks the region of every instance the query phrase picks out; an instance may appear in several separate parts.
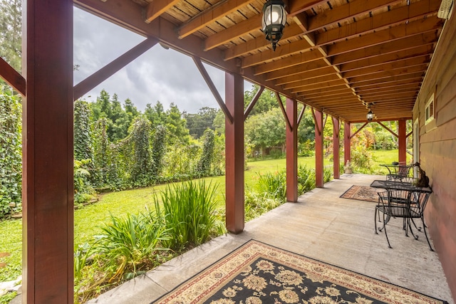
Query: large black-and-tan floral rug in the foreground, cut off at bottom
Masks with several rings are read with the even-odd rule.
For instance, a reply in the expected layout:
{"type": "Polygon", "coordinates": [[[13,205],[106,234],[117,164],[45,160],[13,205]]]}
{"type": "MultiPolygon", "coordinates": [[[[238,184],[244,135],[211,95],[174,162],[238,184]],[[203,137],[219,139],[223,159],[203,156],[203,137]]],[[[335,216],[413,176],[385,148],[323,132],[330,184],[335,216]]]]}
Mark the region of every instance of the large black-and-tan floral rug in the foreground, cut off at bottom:
{"type": "Polygon", "coordinates": [[[249,241],[153,303],[446,303],[249,241]]]}

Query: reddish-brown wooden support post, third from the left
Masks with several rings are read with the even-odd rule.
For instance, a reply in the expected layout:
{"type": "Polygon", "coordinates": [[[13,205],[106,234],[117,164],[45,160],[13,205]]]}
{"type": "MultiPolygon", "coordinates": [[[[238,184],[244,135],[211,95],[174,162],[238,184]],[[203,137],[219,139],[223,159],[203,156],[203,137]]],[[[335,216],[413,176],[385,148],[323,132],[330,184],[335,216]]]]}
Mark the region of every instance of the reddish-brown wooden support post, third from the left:
{"type": "Polygon", "coordinates": [[[286,200],[298,201],[298,103],[286,98],[286,200]],[[290,128],[291,126],[291,128],[290,128]]]}

